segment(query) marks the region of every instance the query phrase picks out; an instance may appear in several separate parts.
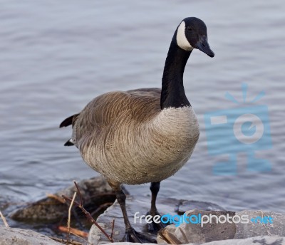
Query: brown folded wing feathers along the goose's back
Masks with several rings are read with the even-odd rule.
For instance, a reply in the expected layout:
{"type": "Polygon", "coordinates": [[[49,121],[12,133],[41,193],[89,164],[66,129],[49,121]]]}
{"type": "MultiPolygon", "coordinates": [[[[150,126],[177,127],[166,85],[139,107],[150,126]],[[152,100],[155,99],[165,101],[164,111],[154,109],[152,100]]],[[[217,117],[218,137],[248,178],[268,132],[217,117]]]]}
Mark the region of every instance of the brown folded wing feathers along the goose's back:
{"type": "Polygon", "coordinates": [[[160,93],[159,88],[142,88],[99,95],[77,116],[73,125],[74,144],[79,149],[92,144],[88,142],[90,139],[95,140],[96,135],[107,134],[110,128],[119,126],[126,117],[136,123],[150,120],[160,113],[160,93]],[[91,134],[93,137],[88,137],[91,134]]]}

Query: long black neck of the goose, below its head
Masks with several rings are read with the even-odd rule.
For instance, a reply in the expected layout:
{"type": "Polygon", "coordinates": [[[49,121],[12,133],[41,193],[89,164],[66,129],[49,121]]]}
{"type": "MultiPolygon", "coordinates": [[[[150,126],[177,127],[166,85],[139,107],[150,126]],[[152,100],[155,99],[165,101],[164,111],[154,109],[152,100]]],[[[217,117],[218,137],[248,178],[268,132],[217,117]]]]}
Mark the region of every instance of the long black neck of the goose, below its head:
{"type": "Polygon", "coordinates": [[[183,86],[183,73],[192,51],[185,51],[172,39],[162,76],[160,108],[182,108],[190,106],[183,86]]]}

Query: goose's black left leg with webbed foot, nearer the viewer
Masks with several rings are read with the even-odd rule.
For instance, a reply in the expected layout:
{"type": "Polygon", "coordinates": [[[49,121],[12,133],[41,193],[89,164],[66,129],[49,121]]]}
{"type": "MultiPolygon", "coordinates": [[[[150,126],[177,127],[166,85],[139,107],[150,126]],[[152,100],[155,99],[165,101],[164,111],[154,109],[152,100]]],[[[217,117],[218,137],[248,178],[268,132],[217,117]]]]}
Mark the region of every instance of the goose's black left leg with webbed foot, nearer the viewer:
{"type": "MultiPolygon", "coordinates": [[[[109,182],[110,184],[110,182],[109,182]]],[[[141,234],[130,225],[130,221],[128,219],[127,210],[125,209],[125,193],[120,187],[120,184],[116,185],[114,188],[113,184],[110,184],[113,189],[115,189],[115,194],[118,200],[118,203],[120,204],[120,208],[123,212],[123,218],[125,222],[125,236],[123,238],[123,241],[129,241],[129,242],[137,242],[137,243],[152,243],[156,244],[157,241],[155,239],[151,239],[150,237],[145,236],[144,234],[141,234]]]]}

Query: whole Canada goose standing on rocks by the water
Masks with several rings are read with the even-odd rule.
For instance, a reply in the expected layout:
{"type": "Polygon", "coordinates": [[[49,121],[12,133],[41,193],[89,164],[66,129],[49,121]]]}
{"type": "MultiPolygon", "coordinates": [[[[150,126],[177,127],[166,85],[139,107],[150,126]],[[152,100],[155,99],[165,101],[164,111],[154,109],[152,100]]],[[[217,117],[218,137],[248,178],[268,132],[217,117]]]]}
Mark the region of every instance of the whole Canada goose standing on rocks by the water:
{"type": "MultiPolygon", "coordinates": [[[[65,145],[78,147],[83,160],[115,190],[125,221],[125,241],[155,242],[130,225],[121,184],[151,182],[149,213],[152,217],[159,214],[155,200],[160,182],[185,165],[199,138],[199,124],[183,87],[185,65],[194,48],[214,57],[206,25],[189,17],[182,20],[170,43],[161,90],[140,88],[99,95],[60,125],[72,125],[72,137],[65,145]]],[[[155,225],[152,222],[150,230],[155,225]]]]}

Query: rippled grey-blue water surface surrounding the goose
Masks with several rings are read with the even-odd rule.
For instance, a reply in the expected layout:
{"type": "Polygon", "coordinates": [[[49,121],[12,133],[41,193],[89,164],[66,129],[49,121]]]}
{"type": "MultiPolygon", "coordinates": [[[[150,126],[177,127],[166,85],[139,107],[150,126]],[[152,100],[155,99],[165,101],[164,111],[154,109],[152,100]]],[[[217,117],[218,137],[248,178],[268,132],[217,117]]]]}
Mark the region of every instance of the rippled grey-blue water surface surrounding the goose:
{"type": "MultiPolygon", "coordinates": [[[[176,26],[197,16],[206,22],[216,53],[211,59],[194,51],[185,71],[201,136],[190,162],[162,182],[160,195],[284,212],[284,5],[281,0],[2,2],[0,207],[95,175],[75,147],[63,147],[71,132],[59,130],[59,123],[109,90],[160,87],[176,26]],[[208,155],[203,115],[234,108],[224,93],[242,100],[244,82],[252,99],[266,92],[257,105],[269,108],[273,147],[257,153],[271,162],[272,171],[248,172],[246,156],[239,154],[236,175],[214,175],[212,167],[227,155],[208,155]]],[[[129,189],[149,193],[146,185],[129,189]]]]}

